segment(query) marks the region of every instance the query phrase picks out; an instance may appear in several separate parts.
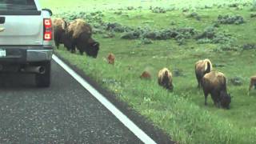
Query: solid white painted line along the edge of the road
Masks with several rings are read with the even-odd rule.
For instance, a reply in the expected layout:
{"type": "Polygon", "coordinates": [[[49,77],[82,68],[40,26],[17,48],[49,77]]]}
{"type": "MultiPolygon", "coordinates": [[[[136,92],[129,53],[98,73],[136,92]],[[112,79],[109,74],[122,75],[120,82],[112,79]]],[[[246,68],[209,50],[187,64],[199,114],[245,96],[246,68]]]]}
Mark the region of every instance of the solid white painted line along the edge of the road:
{"type": "Polygon", "coordinates": [[[122,122],[122,124],[124,124],[131,132],[133,132],[142,142],[146,144],[156,143],[144,131],[136,126],[134,122],[130,120],[130,118],[127,118],[125,114],[122,114],[122,112],[118,110],[118,108],[116,108],[110,101],[108,101],[102,94],[100,94],[98,90],[95,90],[93,86],[90,86],[88,82],[86,82],[80,75],[74,72],[74,70],[72,70],[70,66],[67,66],[56,55],[53,55],[52,58],[55,62],[58,63],[58,65],[62,66],[62,68],[66,70],[75,80],[77,80],[86,90],[88,90],[90,94],[97,98],[98,101],[106,107],[106,109],[110,110],[110,112],[114,114],[114,116],[118,118],[118,120],[122,122]]]}

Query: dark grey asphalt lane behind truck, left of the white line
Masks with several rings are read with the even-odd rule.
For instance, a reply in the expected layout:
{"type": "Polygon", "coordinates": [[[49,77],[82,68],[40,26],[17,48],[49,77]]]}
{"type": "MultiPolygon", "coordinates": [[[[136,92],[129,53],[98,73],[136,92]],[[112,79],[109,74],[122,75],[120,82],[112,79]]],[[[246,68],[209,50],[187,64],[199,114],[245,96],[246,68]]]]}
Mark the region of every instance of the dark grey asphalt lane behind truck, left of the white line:
{"type": "Polygon", "coordinates": [[[52,77],[0,76],[0,143],[142,143],[55,62],[52,77]]]}

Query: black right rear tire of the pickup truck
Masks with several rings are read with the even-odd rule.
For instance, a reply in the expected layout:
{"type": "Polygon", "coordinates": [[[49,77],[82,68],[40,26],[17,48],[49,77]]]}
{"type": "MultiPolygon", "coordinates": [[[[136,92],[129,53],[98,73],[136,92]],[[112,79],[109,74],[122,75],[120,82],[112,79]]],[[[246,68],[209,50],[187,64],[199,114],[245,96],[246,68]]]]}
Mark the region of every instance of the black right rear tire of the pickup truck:
{"type": "Polygon", "coordinates": [[[35,82],[38,87],[49,87],[50,86],[50,62],[43,62],[42,66],[46,67],[44,74],[36,74],[35,82]]]}

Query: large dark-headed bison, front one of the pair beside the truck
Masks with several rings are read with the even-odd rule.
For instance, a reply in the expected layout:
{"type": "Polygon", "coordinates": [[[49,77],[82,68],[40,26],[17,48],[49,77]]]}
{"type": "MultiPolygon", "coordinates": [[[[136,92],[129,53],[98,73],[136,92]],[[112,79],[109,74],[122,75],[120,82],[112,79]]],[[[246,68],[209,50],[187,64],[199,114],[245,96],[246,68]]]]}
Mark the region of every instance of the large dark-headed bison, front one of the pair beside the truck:
{"type": "Polygon", "coordinates": [[[66,38],[64,45],[72,53],[75,52],[75,46],[78,48],[80,54],[86,52],[88,56],[97,58],[99,43],[95,42],[91,38],[92,29],[91,26],[82,19],[76,19],[74,22],[70,22],[70,25],[66,29],[66,38]]]}

